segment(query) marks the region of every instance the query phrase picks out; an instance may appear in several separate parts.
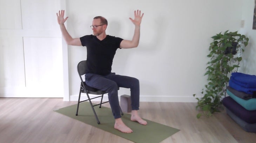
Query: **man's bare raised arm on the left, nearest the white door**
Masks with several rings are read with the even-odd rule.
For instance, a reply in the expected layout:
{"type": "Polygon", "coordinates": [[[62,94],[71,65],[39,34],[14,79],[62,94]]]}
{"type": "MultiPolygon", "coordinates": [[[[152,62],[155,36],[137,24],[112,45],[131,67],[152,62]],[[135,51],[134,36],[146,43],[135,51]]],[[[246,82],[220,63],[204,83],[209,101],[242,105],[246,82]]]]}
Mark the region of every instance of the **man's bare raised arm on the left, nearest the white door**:
{"type": "Polygon", "coordinates": [[[58,23],[60,24],[61,33],[62,33],[66,43],[68,45],[82,46],[80,38],[72,38],[69,35],[69,33],[64,25],[64,23],[67,21],[68,17],[64,18],[64,13],[65,13],[65,10],[61,10],[61,11],[59,10],[59,14],[58,13],[56,13],[56,14],[57,14],[58,23]]]}

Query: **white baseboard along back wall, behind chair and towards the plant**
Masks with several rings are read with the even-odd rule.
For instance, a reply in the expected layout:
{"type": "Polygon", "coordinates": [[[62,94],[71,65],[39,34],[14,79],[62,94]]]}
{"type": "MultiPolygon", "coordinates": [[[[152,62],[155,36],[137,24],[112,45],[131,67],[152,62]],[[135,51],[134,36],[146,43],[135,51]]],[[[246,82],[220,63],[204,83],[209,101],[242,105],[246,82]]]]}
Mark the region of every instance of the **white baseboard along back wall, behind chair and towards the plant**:
{"type": "MultiPolygon", "coordinates": [[[[95,95],[90,95],[90,97],[96,97],[95,95]]],[[[86,100],[87,96],[83,94],[80,100],[86,100]]],[[[78,101],[78,95],[70,95],[70,101],[78,101]]],[[[119,96],[120,100],[120,96],[119,96]]],[[[100,98],[93,99],[93,101],[100,101],[100,98]]],[[[108,101],[108,96],[103,96],[103,101],[108,101]]],[[[197,102],[193,96],[140,96],[141,102],[197,102]]]]}

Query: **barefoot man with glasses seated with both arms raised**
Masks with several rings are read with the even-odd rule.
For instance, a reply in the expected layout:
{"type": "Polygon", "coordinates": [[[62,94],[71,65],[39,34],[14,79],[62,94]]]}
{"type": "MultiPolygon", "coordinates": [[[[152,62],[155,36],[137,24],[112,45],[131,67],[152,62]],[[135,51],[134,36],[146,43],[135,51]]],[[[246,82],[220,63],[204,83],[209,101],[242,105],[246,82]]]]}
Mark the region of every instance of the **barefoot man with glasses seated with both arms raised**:
{"type": "Polygon", "coordinates": [[[111,73],[113,58],[117,48],[134,48],[139,45],[140,24],[143,17],[140,10],[134,11],[135,18],[129,18],[135,25],[132,40],[123,40],[118,37],[106,35],[108,22],[102,16],[94,17],[92,23],[93,35],[86,35],[80,38],[72,38],[64,25],[67,18],[64,18],[64,10],[57,13],[58,23],[64,39],[68,45],[87,47],[86,84],[96,89],[108,92],[109,104],[115,118],[114,128],[123,133],[132,133],[132,129],[127,127],[122,119],[118,100],[118,87],[130,88],[132,101],[131,120],[142,125],[147,122],[140,118],[139,110],[139,80],[133,77],[116,75],[111,73]]]}

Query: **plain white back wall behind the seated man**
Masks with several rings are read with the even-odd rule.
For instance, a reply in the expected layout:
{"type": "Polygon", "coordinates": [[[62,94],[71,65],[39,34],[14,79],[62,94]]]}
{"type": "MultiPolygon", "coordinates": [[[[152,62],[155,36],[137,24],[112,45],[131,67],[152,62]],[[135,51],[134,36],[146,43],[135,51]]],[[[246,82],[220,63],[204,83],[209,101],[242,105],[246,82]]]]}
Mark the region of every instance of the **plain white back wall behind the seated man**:
{"type": "MultiPolygon", "coordinates": [[[[206,55],[210,37],[226,30],[240,30],[242,16],[249,21],[243,7],[250,3],[248,0],[67,0],[67,29],[73,37],[92,34],[89,27],[92,19],[101,15],[109,22],[108,35],[132,39],[134,25],[129,17],[133,18],[134,10],[140,9],[144,17],[139,47],[117,50],[112,72],[138,78],[141,101],[190,102],[195,101],[194,93],[201,96],[206,84],[203,75],[209,60],[206,55]]],[[[68,46],[70,100],[76,100],[79,93],[76,65],[85,59],[86,47],[68,46]]],[[[120,89],[119,95],[123,94],[129,95],[129,89],[120,89]]]]}

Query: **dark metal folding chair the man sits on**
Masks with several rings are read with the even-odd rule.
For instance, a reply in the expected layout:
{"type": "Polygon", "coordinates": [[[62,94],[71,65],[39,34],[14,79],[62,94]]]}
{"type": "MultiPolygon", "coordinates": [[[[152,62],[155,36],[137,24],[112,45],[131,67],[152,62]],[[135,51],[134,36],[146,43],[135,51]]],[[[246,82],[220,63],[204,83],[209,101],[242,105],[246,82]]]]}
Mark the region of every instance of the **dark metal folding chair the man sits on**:
{"type": "MultiPolygon", "coordinates": [[[[78,115],[79,104],[81,102],[84,102],[84,101],[89,101],[89,103],[90,103],[90,105],[92,107],[93,113],[95,115],[95,118],[96,118],[98,124],[100,124],[99,118],[98,118],[98,116],[97,116],[97,114],[96,114],[96,112],[94,110],[94,106],[100,105],[100,108],[101,108],[102,104],[109,102],[109,101],[105,101],[105,102],[102,103],[103,95],[106,94],[107,92],[106,91],[101,91],[101,90],[98,90],[98,89],[95,89],[95,88],[92,88],[92,87],[86,85],[85,81],[83,81],[83,78],[82,78],[82,76],[85,75],[86,68],[87,68],[86,60],[85,61],[80,61],[78,63],[77,70],[78,70],[79,77],[81,79],[81,85],[80,85],[80,92],[79,92],[79,97],[78,97],[78,107],[77,107],[77,110],[76,110],[76,116],[78,115]],[[88,99],[80,101],[81,93],[86,93],[88,99]],[[90,98],[89,94],[100,95],[100,96],[90,98]],[[94,104],[93,105],[91,99],[100,98],[100,97],[101,97],[100,104],[94,104]]],[[[122,112],[122,109],[121,109],[120,106],[119,106],[119,108],[120,108],[121,114],[123,115],[123,112],[122,112]]]]}

